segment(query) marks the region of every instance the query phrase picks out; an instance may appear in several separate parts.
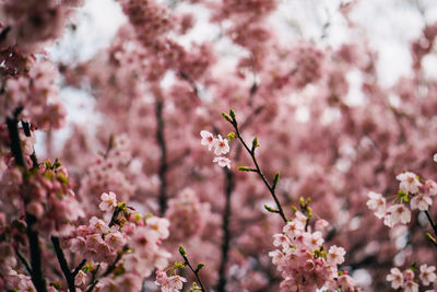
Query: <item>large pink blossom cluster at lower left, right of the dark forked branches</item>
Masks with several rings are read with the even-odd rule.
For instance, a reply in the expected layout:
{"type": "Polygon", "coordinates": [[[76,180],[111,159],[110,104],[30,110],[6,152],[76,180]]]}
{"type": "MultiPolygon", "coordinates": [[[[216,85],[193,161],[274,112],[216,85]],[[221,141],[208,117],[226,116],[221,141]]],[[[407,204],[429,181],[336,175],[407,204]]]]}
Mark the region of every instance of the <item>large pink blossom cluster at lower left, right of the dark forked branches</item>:
{"type": "Polygon", "coordinates": [[[162,241],[169,235],[169,222],[132,213],[132,208],[117,201],[114,192],[104,192],[101,199],[99,209],[111,215],[110,221],[93,217],[87,225],[78,226],[67,243],[72,253],[88,262],[83,273],[76,276],[76,285],[92,284],[90,272],[101,266],[114,271],[108,277],[106,272],[101,275],[105,277],[97,283],[101,291],[139,291],[144,277],[155,267],[162,269],[168,264],[170,254],[162,247],[162,241]]]}

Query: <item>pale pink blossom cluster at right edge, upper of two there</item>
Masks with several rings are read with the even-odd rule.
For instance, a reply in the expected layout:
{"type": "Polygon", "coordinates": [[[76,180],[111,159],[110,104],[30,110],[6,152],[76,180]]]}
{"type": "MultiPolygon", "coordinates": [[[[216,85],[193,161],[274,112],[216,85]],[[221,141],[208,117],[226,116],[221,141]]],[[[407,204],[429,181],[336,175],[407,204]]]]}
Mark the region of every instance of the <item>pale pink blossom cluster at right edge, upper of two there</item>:
{"type": "Polygon", "coordinates": [[[411,210],[427,211],[433,205],[433,197],[437,195],[437,184],[432,179],[421,182],[420,177],[411,172],[397,176],[400,180],[399,192],[392,205],[387,207],[387,200],[381,194],[368,192],[367,207],[383,224],[393,227],[395,224],[408,224],[411,221],[411,210]],[[406,202],[410,202],[410,208],[406,202]]]}

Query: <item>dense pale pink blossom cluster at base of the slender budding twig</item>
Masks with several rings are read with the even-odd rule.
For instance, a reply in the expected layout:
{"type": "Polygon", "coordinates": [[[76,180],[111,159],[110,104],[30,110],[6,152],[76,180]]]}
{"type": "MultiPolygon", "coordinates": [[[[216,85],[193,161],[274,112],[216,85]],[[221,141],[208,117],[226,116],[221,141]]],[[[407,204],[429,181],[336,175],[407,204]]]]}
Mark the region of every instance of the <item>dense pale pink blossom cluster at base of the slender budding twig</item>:
{"type": "Polygon", "coordinates": [[[344,248],[332,245],[326,249],[323,246],[326,221],[316,222],[314,232],[308,222],[308,217],[297,211],[283,232],[273,235],[273,245],[280,249],[270,252],[269,256],[284,279],[281,291],[332,291],[339,288],[357,291],[347,272],[338,270],[338,265],[344,261],[344,248]]]}

